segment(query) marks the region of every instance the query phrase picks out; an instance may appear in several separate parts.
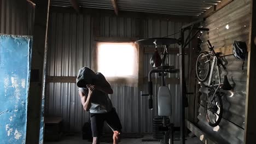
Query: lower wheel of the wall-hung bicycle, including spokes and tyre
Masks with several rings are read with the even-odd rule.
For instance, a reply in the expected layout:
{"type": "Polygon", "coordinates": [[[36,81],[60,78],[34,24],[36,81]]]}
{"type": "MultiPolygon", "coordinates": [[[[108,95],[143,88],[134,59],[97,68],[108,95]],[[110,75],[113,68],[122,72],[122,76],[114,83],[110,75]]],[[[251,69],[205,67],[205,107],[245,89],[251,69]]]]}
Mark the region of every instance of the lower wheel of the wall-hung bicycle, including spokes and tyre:
{"type": "Polygon", "coordinates": [[[205,100],[205,115],[209,125],[216,127],[222,120],[223,103],[219,92],[213,97],[214,92],[210,92],[205,100]]]}

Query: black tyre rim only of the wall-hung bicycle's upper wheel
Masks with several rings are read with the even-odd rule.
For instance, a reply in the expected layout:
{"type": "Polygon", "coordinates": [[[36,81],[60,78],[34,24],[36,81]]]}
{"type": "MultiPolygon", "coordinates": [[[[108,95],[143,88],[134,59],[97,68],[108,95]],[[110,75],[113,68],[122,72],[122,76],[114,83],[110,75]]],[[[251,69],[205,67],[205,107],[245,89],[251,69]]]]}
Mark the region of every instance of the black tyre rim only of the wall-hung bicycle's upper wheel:
{"type": "Polygon", "coordinates": [[[208,52],[206,52],[206,51],[203,51],[203,52],[201,52],[201,53],[199,53],[199,55],[197,56],[197,58],[196,58],[196,64],[195,64],[195,70],[196,70],[196,78],[197,78],[197,80],[199,80],[200,82],[206,82],[207,81],[207,79],[209,78],[209,76],[210,76],[210,71],[211,71],[211,62],[210,61],[208,61],[209,59],[210,59],[210,57],[208,57],[208,56],[206,56],[205,58],[207,59],[207,71],[206,71],[206,75],[205,75],[205,77],[200,77],[199,76],[199,58],[202,56],[202,55],[207,55],[208,54],[208,52]]]}

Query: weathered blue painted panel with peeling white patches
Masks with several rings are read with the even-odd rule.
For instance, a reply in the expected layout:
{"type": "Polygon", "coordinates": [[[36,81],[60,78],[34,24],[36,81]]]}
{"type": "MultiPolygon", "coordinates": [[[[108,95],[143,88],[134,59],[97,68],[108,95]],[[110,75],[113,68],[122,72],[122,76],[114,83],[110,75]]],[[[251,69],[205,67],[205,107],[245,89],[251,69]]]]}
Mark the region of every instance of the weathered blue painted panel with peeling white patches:
{"type": "Polygon", "coordinates": [[[32,37],[0,35],[0,143],[25,143],[32,37]]]}

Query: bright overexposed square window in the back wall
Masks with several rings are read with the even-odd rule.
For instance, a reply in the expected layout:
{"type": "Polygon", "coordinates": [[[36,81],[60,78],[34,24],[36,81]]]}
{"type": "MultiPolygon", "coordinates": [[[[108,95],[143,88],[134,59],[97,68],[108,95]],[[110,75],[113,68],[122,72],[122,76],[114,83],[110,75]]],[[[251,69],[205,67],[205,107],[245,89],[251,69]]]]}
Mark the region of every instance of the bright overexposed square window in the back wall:
{"type": "Polygon", "coordinates": [[[134,43],[98,43],[97,71],[105,77],[138,76],[137,49],[134,43]]]}

